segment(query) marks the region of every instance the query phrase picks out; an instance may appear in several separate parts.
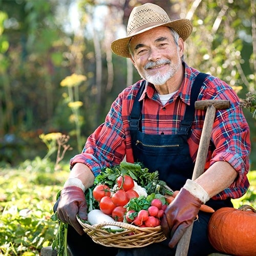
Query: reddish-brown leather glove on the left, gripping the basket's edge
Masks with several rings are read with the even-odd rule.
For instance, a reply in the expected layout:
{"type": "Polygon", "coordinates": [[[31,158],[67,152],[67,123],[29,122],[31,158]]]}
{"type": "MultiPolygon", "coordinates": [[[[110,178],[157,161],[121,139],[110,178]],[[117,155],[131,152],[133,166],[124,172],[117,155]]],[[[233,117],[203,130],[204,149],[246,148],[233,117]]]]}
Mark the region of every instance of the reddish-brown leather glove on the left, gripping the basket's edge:
{"type": "Polygon", "coordinates": [[[83,190],[77,186],[67,186],[61,190],[57,207],[57,216],[64,222],[75,228],[79,234],[84,231],[76,219],[76,215],[87,220],[87,202],[83,190]]]}

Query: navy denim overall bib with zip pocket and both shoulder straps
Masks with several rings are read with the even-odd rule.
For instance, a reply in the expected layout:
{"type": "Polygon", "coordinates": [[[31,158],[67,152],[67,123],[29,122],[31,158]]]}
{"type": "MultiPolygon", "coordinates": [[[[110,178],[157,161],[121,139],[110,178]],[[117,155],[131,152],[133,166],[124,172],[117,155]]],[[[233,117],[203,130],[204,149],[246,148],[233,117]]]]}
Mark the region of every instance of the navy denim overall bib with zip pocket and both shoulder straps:
{"type": "Polygon", "coordinates": [[[194,169],[193,160],[189,154],[187,139],[195,114],[195,101],[198,98],[201,84],[206,74],[197,76],[190,95],[190,105],[186,106],[184,119],[178,134],[151,135],[141,132],[141,108],[139,98],[144,90],[142,84],[133,104],[130,117],[130,133],[135,162],[141,162],[151,172],[158,170],[159,179],[167,183],[173,190],[179,190],[191,179],[194,169]]]}

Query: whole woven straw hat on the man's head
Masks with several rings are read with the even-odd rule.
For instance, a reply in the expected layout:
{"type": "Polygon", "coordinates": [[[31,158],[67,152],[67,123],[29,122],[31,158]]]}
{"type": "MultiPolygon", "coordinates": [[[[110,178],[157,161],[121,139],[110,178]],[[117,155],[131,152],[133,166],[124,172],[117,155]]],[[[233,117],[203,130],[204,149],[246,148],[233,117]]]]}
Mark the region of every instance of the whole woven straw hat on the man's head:
{"type": "Polygon", "coordinates": [[[112,42],[111,50],[122,57],[129,58],[130,39],[147,30],[166,26],[174,29],[185,41],[191,34],[193,25],[189,19],[176,19],[171,21],[168,14],[158,5],[144,4],[135,7],[129,17],[127,24],[127,37],[112,42]]]}

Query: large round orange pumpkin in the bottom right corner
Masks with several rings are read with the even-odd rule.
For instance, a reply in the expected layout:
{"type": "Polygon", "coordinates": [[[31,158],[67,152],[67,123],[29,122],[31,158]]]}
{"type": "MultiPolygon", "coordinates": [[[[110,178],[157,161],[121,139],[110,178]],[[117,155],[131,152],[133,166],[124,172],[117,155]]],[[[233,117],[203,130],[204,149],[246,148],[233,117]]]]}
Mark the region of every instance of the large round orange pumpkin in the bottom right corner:
{"type": "Polygon", "coordinates": [[[256,255],[256,210],[249,205],[239,209],[224,207],[212,214],[208,237],[218,251],[232,255],[256,255]]]}

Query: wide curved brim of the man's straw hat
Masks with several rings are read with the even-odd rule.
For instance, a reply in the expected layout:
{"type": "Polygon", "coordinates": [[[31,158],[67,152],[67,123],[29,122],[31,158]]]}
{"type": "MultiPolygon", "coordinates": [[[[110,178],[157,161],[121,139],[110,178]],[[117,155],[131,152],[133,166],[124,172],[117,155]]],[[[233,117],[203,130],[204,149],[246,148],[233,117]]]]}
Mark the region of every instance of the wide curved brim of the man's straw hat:
{"type": "Polygon", "coordinates": [[[193,30],[193,25],[192,25],[191,20],[176,19],[176,20],[173,20],[172,22],[161,23],[161,24],[158,24],[155,26],[147,27],[145,29],[138,31],[137,33],[130,35],[130,36],[116,39],[111,44],[111,50],[119,56],[130,58],[129,41],[131,40],[131,38],[135,35],[141,34],[145,31],[151,30],[153,28],[161,27],[161,26],[165,26],[165,27],[174,29],[180,35],[180,37],[183,39],[183,41],[185,41],[190,36],[190,34],[193,30]]]}

